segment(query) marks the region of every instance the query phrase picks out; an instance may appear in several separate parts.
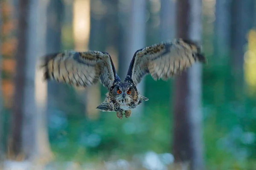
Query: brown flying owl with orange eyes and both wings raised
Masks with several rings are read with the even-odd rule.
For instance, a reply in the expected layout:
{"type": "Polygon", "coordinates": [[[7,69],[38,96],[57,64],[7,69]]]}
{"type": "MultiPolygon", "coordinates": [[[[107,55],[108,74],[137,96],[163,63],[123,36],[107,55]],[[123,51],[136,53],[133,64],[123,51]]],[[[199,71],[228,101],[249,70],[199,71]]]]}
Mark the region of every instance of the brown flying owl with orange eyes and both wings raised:
{"type": "Polygon", "coordinates": [[[136,88],[146,74],[150,74],[155,81],[167,80],[196,61],[207,62],[198,45],[190,40],[174,39],[137,50],[124,81],[116,74],[111,56],[101,51],[67,50],[49,54],[43,57],[41,68],[44,68],[45,80],[84,88],[100,82],[108,93],[96,109],[114,111],[122,119],[123,112],[128,118],[131,109],[148,100],[136,88]]]}

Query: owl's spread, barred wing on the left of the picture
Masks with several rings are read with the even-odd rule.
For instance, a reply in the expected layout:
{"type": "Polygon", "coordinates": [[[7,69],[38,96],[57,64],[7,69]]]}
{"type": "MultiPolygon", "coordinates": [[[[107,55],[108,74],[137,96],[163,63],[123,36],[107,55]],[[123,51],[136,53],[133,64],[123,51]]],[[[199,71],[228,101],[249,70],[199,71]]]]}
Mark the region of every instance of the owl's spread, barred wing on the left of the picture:
{"type": "Polygon", "coordinates": [[[100,51],[64,51],[42,58],[44,79],[52,79],[77,87],[88,87],[98,81],[110,89],[116,70],[111,56],[100,51]]]}

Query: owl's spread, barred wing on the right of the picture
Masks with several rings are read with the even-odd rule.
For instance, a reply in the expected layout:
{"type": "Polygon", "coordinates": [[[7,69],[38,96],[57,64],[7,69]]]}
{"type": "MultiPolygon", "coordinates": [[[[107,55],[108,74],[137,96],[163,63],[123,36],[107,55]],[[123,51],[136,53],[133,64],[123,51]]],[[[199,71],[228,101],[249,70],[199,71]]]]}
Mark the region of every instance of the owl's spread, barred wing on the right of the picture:
{"type": "Polygon", "coordinates": [[[137,85],[146,74],[150,74],[154,80],[166,80],[196,61],[206,63],[207,59],[194,42],[183,39],[161,42],[136,51],[126,80],[132,79],[137,85]]]}

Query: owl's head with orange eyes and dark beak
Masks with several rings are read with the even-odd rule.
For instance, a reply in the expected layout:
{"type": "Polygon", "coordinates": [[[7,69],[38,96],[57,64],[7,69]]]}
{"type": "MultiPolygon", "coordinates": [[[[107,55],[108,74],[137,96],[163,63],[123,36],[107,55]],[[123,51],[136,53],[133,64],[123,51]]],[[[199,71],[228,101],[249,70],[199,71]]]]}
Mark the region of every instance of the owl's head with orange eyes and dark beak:
{"type": "Polygon", "coordinates": [[[110,91],[110,95],[121,104],[129,103],[137,99],[138,91],[134,84],[129,82],[119,82],[110,91]]]}

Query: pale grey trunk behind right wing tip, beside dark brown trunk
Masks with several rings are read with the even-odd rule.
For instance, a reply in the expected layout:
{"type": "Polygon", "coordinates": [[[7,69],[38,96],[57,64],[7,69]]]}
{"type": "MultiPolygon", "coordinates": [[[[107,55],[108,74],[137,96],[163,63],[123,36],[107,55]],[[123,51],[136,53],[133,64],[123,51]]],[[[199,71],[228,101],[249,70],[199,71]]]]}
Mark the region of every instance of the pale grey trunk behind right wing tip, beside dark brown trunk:
{"type": "MultiPolygon", "coordinates": [[[[190,26],[189,38],[195,42],[201,43],[202,32],[202,2],[201,0],[190,0],[190,26]]],[[[192,136],[192,169],[203,170],[203,141],[202,141],[202,68],[200,63],[195,63],[189,68],[188,72],[188,94],[187,104],[189,119],[191,120],[191,136],[192,136]]]]}

